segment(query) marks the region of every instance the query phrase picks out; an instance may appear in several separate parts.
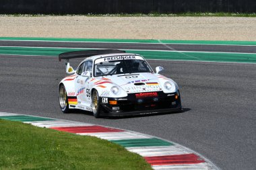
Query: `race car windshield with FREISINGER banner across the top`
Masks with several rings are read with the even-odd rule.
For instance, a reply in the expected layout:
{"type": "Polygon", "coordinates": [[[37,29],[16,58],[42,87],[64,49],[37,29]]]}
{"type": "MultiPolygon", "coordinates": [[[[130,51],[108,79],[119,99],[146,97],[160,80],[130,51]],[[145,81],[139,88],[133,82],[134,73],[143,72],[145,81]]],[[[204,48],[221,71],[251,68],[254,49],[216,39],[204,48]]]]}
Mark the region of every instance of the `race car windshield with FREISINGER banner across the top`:
{"type": "Polygon", "coordinates": [[[94,62],[94,77],[152,72],[141,56],[111,56],[98,58],[94,62]]]}

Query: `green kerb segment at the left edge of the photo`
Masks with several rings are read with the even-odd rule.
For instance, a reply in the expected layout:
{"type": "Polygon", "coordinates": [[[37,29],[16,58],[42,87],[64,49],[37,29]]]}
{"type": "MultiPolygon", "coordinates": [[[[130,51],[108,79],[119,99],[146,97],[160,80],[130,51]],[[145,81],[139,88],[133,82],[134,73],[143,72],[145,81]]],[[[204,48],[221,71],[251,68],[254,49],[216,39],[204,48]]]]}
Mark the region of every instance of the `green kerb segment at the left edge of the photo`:
{"type": "Polygon", "coordinates": [[[54,119],[50,119],[50,118],[40,118],[40,117],[26,116],[26,115],[18,115],[18,116],[0,116],[0,119],[12,120],[12,121],[18,121],[18,122],[32,122],[32,121],[54,120],[54,119]]]}

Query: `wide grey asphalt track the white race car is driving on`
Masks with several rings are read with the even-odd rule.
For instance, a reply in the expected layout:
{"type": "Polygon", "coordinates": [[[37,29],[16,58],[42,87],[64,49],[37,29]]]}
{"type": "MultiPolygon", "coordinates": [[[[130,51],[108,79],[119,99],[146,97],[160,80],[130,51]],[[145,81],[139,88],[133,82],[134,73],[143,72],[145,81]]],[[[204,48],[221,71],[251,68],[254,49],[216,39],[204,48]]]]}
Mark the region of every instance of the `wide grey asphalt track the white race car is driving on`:
{"type": "MultiPolygon", "coordinates": [[[[18,42],[8,43],[7,46],[17,46],[15,43],[18,42]]],[[[19,43],[24,46],[24,42],[19,43]]],[[[0,45],[3,46],[2,42],[0,45]]],[[[200,45],[193,50],[197,47],[209,48],[200,45]]],[[[217,51],[229,48],[211,47],[217,51]]],[[[255,47],[236,46],[234,50],[255,52],[255,47]]],[[[71,60],[71,65],[75,67],[80,61],[71,60]]],[[[185,112],[102,119],[95,119],[90,112],[63,114],[59,108],[58,84],[66,76],[64,62],[59,62],[54,56],[7,55],[0,55],[0,111],[142,132],[187,146],[221,169],[255,169],[256,65],[171,60],[149,62],[152,67],[164,67],[162,75],[179,84],[185,112]]]]}

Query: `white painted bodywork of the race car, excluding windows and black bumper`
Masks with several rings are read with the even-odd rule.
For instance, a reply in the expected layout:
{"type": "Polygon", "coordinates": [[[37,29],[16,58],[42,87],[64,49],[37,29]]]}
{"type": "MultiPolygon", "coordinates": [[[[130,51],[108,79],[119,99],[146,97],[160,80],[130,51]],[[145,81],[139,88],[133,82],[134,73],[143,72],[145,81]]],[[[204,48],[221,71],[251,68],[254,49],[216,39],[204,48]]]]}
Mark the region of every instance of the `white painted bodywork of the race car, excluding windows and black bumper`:
{"type": "MultiPolygon", "coordinates": [[[[92,71],[94,70],[94,60],[102,62],[104,60],[116,60],[118,57],[124,59],[139,58],[139,60],[145,60],[142,56],[137,54],[104,54],[86,58],[80,64],[86,60],[93,61],[92,71]],[[119,57],[122,56],[123,58],[119,57]]],[[[79,64],[79,65],[80,65],[79,64]]],[[[69,63],[67,63],[69,67],[69,63]]],[[[67,71],[68,68],[66,68],[67,71]]],[[[82,73],[86,74],[86,73],[82,73]]],[[[131,73],[131,74],[119,74],[119,75],[106,75],[104,77],[84,77],[74,73],[61,80],[59,83],[63,84],[67,91],[67,97],[72,97],[73,100],[69,102],[69,109],[80,109],[92,112],[92,89],[98,91],[100,97],[126,97],[129,93],[144,93],[152,91],[163,91],[164,93],[174,93],[179,90],[177,83],[172,81],[163,75],[156,73],[131,73]],[[164,88],[164,83],[172,83],[172,89],[167,90],[164,88]],[[144,83],[144,85],[134,85],[134,83],[144,83]],[[119,87],[119,93],[115,95],[111,88],[113,86],[119,87]],[[75,98],[77,101],[75,101],[75,98]]]]}

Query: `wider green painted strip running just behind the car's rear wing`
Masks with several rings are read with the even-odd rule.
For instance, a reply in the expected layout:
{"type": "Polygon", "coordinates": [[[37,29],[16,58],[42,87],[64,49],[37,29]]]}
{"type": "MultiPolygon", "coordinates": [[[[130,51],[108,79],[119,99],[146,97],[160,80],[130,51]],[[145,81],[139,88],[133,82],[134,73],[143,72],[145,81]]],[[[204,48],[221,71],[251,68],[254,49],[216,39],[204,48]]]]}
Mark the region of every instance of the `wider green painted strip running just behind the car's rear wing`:
{"type": "MultiPolygon", "coordinates": [[[[32,47],[0,47],[0,54],[58,56],[62,52],[85,50],[84,48],[32,48],[32,47]]],[[[146,59],[161,60],[194,60],[213,62],[247,62],[256,63],[256,54],[228,53],[228,52],[176,52],[176,51],[150,51],[126,50],[127,52],[141,54],[146,59]]]]}

